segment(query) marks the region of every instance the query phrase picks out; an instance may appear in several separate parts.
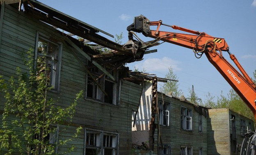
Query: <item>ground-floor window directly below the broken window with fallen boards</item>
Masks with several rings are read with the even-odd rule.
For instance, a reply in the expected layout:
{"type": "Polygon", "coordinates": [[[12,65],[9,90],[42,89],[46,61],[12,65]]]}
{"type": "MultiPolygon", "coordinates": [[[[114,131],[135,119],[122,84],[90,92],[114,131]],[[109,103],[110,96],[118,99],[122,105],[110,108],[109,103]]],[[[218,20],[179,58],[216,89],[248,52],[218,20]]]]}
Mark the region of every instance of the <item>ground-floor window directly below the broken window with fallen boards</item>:
{"type": "Polygon", "coordinates": [[[86,130],[86,155],[117,155],[118,134],[86,130]]]}

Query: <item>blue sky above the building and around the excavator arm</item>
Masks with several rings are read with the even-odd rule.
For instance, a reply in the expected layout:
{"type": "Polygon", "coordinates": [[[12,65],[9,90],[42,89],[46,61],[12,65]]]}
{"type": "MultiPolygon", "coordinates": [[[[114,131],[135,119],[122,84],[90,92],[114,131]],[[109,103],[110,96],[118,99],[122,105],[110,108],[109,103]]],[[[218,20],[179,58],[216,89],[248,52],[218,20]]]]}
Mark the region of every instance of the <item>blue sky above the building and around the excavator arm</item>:
{"type": "MultiPolygon", "coordinates": [[[[225,38],[245,71],[252,77],[256,69],[256,0],[39,0],[40,2],[64,12],[85,23],[93,25],[112,35],[123,33],[122,43],[128,41],[126,27],[133,23],[134,16],[140,14],[150,21],[162,20],[169,25],[178,25],[199,32],[206,32],[215,37],[225,38]]],[[[161,30],[175,32],[171,28],[161,30]]],[[[110,40],[105,34],[101,34],[110,40]]],[[[144,41],[152,40],[138,34],[144,41]]],[[[194,57],[192,50],[170,43],[151,48],[158,52],[144,55],[144,60],[128,64],[158,77],[165,77],[171,66],[178,76],[179,88],[185,97],[189,89],[202,100],[207,93],[226,95],[231,87],[208,62],[203,55],[194,57]]],[[[224,57],[231,62],[229,55],[224,57]]],[[[231,63],[233,64],[233,63],[231,63]]],[[[161,84],[161,83],[160,83],[161,84]]]]}

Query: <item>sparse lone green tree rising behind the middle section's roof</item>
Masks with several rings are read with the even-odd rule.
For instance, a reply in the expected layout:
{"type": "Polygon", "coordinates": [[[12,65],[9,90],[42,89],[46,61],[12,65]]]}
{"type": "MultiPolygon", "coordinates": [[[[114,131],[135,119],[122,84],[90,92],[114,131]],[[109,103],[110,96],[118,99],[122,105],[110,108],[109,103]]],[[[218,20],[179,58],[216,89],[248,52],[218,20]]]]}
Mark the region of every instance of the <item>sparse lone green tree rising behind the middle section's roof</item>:
{"type": "Polygon", "coordinates": [[[170,79],[166,83],[164,83],[161,91],[163,93],[171,93],[174,97],[180,97],[182,94],[181,89],[178,89],[178,78],[174,73],[173,68],[169,68],[169,72],[165,75],[165,78],[170,79]]]}

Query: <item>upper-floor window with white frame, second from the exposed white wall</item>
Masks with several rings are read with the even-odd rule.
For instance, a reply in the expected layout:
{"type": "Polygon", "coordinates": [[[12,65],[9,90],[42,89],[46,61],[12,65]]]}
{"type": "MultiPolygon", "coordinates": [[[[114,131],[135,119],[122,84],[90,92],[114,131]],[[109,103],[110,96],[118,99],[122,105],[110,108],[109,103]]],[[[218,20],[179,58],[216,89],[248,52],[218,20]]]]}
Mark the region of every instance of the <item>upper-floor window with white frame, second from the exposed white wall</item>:
{"type": "Polygon", "coordinates": [[[192,130],[192,110],[181,107],[181,129],[192,130]]]}

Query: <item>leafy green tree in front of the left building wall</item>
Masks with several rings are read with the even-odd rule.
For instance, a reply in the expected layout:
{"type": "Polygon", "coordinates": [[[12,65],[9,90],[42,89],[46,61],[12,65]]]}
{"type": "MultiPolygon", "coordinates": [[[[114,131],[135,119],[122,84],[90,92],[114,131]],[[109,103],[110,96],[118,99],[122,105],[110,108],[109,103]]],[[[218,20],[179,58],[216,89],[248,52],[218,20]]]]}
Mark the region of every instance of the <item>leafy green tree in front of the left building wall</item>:
{"type": "Polygon", "coordinates": [[[28,72],[22,72],[18,67],[16,76],[8,82],[0,79],[6,100],[0,148],[6,151],[6,155],[52,155],[56,146],[66,144],[71,139],[50,143],[49,135],[57,132],[56,126],[59,124],[71,122],[82,91],[76,94],[70,106],[62,108],[55,105],[55,100],[48,95],[51,87],[47,86],[46,72],[39,73],[38,68],[34,71],[33,50],[30,49],[24,55],[27,57],[24,62],[28,72]]]}

